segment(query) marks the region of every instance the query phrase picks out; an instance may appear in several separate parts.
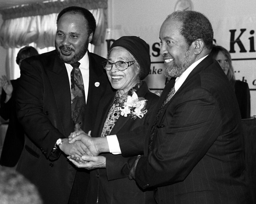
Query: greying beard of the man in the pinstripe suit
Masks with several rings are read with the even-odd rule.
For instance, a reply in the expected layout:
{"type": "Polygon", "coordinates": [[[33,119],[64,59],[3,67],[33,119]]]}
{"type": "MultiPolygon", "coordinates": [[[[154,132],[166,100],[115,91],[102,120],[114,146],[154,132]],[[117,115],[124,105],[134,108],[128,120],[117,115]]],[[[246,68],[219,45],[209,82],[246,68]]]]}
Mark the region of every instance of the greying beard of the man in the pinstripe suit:
{"type": "Polygon", "coordinates": [[[192,65],[191,61],[190,61],[190,56],[189,56],[189,49],[186,51],[185,55],[184,55],[184,60],[182,61],[181,64],[176,64],[175,60],[173,59],[173,61],[170,63],[171,65],[168,65],[168,63],[166,63],[164,65],[164,75],[166,77],[180,77],[180,75],[182,73],[184,73],[184,71],[186,69],[188,69],[188,67],[190,65],[192,65]]]}

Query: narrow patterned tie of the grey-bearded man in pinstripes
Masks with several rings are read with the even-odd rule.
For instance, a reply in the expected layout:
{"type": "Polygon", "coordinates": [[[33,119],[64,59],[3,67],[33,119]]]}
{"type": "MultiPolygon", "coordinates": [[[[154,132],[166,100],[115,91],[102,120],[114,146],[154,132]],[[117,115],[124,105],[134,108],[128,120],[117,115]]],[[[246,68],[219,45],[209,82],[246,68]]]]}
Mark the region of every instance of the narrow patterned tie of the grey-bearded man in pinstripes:
{"type": "Polygon", "coordinates": [[[163,109],[165,108],[165,105],[169,102],[169,100],[171,100],[171,97],[174,94],[175,94],[175,88],[173,86],[171,88],[171,91],[167,94],[167,96],[166,96],[165,100],[163,101],[161,107],[159,108],[159,111],[156,114],[155,122],[152,125],[151,131],[150,131],[150,138],[149,138],[149,142],[148,142],[149,151],[152,151],[152,142],[153,142],[153,138],[154,138],[154,134],[155,134],[155,128],[156,128],[157,120],[158,120],[159,116],[161,115],[161,113],[163,112],[163,109]]]}

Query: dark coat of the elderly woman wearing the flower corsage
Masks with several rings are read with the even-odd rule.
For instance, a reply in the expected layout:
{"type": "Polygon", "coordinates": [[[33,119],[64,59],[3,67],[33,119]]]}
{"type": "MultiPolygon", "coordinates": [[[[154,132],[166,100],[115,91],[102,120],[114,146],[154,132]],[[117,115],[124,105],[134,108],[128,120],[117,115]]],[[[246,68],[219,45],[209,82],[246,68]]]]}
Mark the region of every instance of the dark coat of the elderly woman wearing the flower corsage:
{"type": "MultiPolygon", "coordinates": [[[[129,115],[127,117],[120,115],[110,135],[115,135],[118,132],[131,131],[147,123],[147,117],[151,114],[159,97],[149,91],[146,82],[143,82],[136,93],[138,97],[144,97],[147,100],[146,115],[142,119],[137,117],[136,120],[132,119],[129,115]]],[[[92,136],[101,136],[105,120],[114,101],[114,95],[106,96],[104,100],[101,100],[101,110],[98,112],[99,114],[96,119],[95,128],[92,131],[92,136]]],[[[142,140],[144,141],[145,135],[140,136],[143,137],[142,140]]],[[[141,151],[143,153],[143,147],[141,151]]],[[[106,157],[106,168],[96,169],[90,172],[89,193],[87,194],[86,203],[155,203],[153,191],[142,191],[134,180],[128,179],[130,171],[128,164],[130,160],[134,159],[133,157],[125,158],[121,154],[113,155],[111,153],[101,155],[106,157]]]]}

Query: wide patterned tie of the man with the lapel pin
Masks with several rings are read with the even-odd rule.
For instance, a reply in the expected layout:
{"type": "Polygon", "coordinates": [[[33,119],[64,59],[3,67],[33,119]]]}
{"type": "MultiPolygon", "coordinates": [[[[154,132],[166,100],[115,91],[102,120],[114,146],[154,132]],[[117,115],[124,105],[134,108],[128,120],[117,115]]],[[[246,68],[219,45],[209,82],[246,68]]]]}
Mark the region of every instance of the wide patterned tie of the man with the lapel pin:
{"type": "Polygon", "coordinates": [[[80,63],[71,64],[71,117],[74,130],[81,130],[85,115],[85,87],[82,73],[79,69],[80,63]]]}

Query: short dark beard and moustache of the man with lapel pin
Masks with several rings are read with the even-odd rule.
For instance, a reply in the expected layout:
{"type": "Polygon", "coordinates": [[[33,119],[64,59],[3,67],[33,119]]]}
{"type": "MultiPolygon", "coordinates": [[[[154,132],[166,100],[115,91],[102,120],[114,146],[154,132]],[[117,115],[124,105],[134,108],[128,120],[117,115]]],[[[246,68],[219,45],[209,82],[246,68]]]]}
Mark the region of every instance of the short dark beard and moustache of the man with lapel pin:
{"type": "Polygon", "coordinates": [[[88,49],[88,45],[89,42],[86,41],[85,44],[78,50],[77,53],[75,53],[75,50],[69,46],[64,46],[64,45],[60,45],[59,47],[57,46],[56,42],[55,42],[55,49],[57,50],[58,56],[60,57],[60,60],[63,61],[64,63],[67,64],[73,64],[78,62],[79,60],[81,60],[85,53],[87,52],[88,49]],[[68,50],[72,50],[73,52],[71,52],[68,55],[64,55],[61,53],[61,49],[64,49],[65,51],[68,50]],[[71,57],[72,53],[75,53],[73,57],[71,57]]]}

